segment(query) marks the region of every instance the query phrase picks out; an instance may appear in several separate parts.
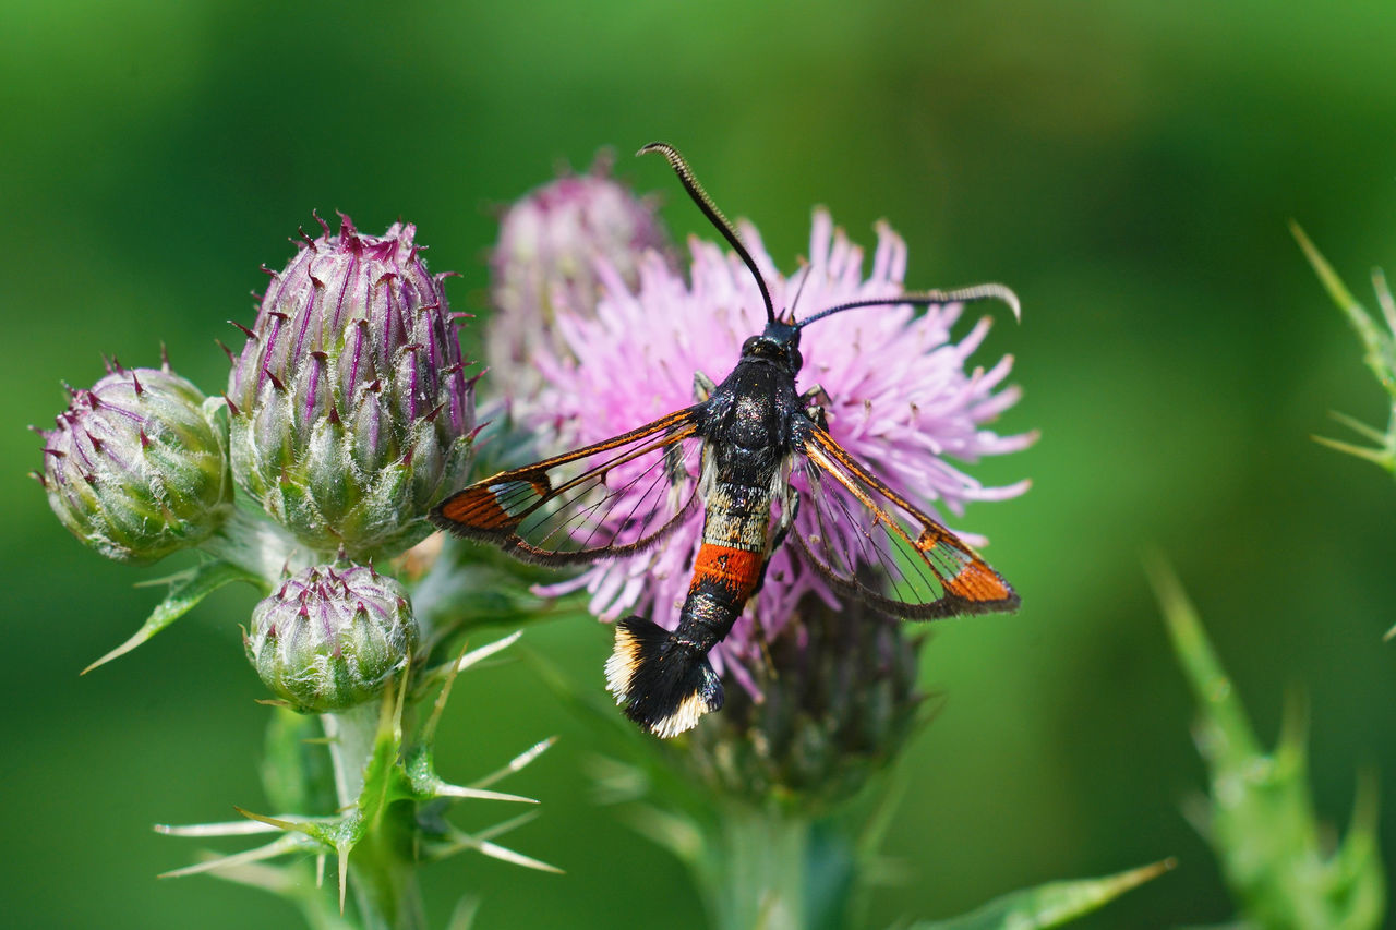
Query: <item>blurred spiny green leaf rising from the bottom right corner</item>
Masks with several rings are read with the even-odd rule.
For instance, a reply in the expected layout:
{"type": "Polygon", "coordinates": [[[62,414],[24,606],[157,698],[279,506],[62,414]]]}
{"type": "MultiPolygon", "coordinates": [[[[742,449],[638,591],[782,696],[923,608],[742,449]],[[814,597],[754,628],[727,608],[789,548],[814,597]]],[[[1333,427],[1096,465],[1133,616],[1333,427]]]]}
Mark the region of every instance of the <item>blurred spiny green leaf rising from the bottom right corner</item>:
{"type": "Polygon", "coordinates": [[[1309,799],[1302,705],[1291,702],[1279,744],[1263,753],[1182,585],[1160,557],[1148,568],[1199,707],[1195,739],[1212,782],[1203,834],[1241,915],[1262,927],[1381,926],[1386,880],[1371,779],[1360,782],[1346,841],[1329,853],[1309,799]]]}

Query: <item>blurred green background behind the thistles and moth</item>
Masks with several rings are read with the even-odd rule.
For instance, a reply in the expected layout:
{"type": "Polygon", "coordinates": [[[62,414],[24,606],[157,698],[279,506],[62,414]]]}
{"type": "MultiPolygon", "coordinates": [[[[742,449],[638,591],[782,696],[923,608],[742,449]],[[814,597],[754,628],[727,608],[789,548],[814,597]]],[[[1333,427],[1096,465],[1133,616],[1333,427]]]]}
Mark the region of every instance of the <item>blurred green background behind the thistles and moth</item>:
{"type": "MultiPolygon", "coordinates": [[[[7,617],[0,748],[10,926],[295,926],[209,878],[155,821],[260,809],[267,711],[242,658],[250,591],[225,589],[135,654],[78,670],[158,598],[78,546],[38,485],[27,423],[91,384],[99,353],[222,390],[225,320],[250,321],[311,211],[419,225],[456,309],[483,307],[498,204],[614,145],[666,218],[699,230],[652,138],[789,270],[810,208],[856,239],[889,219],[913,285],[1022,295],[1005,431],[1029,452],[976,469],[1033,479],[965,526],[1023,595],[949,621],[924,680],[948,694],[905,760],[886,852],[912,880],[870,926],[966,910],[1011,888],[1177,856],[1082,926],[1230,916],[1181,807],[1203,785],[1192,707],[1141,568],[1175,563],[1273,740],[1286,697],[1312,719],[1316,806],[1346,825],[1356,774],[1383,785],[1396,857],[1396,487],[1321,448],[1339,409],[1383,395],[1286,230],[1295,218],[1367,300],[1396,264],[1396,15],[1389,3],[38,3],[0,4],[6,363],[0,485],[7,617]],[[759,8],[758,8],[759,7],[759,8]],[[195,920],[197,919],[197,920],[195,920]]],[[[702,230],[704,235],[709,235],[702,230]]],[[[1344,436],[1344,438],[1347,438],[1344,436]]],[[[177,561],[177,560],[172,560],[177,561]]],[[[176,566],[177,567],[177,566],[176,566]]],[[[609,631],[551,624],[532,648],[600,690],[609,631]]],[[[508,782],[543,800],[511,845],[567,870],[462,857],[426,873],[444,922],[702,926],[683,870],[593,804],[593,737],[524,663],[462,681],[447,776],[561,741],[508,782]]],[[[477,804],[462,824],[514,811],[477,804]]]]}

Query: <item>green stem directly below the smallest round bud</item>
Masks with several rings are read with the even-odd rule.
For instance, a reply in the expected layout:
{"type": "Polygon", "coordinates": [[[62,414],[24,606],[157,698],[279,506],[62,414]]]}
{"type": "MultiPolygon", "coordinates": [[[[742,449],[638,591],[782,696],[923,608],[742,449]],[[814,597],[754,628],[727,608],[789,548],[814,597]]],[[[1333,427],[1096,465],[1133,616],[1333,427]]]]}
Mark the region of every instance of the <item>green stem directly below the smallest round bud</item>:
{"type": "MultiPolygon", "coordinates": [[[[378,735],[377,702],[360,704],[321,721],[329,739],[335,768],[335,795],[342,810],[359,807],[364,788],[364,767],[378,735]]],[[[412,859],[413,806],[388,804],[373,821],[350,855],[350,885],[364,930],[419,930],[426,926],[422,890],[412,859]]]]}

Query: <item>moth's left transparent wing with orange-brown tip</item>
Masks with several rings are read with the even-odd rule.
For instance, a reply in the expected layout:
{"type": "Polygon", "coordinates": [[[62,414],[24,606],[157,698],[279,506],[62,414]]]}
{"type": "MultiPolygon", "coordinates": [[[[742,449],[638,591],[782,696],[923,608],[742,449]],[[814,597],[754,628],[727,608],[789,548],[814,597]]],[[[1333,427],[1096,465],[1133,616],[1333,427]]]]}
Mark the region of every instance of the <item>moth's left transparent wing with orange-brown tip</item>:
{"type": "Polygon", "coordinates": [[[486,478],[447,497],[431,522],[553,566],[642,552],[694,505],[699,411],[486,478]]]}

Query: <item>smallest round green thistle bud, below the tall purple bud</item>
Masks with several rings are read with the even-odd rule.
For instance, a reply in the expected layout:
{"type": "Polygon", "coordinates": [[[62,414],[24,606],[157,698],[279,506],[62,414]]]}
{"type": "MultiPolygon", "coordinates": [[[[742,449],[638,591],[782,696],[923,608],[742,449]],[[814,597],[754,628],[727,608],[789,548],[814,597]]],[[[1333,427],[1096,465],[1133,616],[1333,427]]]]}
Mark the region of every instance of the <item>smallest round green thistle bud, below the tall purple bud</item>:
{"type": "Polygon", "coordinates": [[[406,591],[371,567],[314,566],[253,609],[247,659],[302,714],[342,711],[380,693],[408,663],[417,621],[406,591]]]}

